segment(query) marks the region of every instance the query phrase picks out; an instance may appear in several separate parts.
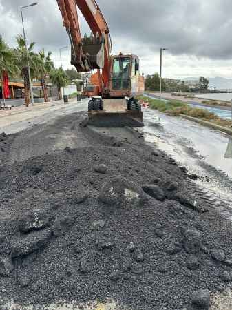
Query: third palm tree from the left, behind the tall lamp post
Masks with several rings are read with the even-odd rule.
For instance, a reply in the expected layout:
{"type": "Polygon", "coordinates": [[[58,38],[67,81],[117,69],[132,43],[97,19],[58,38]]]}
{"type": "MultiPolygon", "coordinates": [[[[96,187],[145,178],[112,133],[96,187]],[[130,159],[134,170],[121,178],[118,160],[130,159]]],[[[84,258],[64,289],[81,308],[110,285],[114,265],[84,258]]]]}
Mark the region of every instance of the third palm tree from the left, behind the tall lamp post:
{"type": "Polygon", "coordinates": [[[43,96],[44,101],[48,102],[48,90],[46,87],[46,78],[49,76],[49,74],[52,72],[52,69],[54,69],[54,63],[51,60],[52,52],[48,52],[48,54],[45,54],[44,50],[41,50],[39,54],[36,55],[36,72],[37,77],[41,81],[41,85],[43,88],[43,96]]]}

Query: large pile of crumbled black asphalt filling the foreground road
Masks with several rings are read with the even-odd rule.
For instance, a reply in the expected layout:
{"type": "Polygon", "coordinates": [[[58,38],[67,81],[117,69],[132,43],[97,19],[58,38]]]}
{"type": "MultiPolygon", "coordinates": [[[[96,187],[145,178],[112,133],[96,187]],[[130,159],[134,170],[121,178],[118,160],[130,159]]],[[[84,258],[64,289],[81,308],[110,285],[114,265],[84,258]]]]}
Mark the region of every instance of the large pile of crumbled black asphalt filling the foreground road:
{"type": "Polygon", "coordinates": [[[232,280],[232,229],[189,182],[139,134],[1,165],[1,302],[209,309],[232,280]]]}

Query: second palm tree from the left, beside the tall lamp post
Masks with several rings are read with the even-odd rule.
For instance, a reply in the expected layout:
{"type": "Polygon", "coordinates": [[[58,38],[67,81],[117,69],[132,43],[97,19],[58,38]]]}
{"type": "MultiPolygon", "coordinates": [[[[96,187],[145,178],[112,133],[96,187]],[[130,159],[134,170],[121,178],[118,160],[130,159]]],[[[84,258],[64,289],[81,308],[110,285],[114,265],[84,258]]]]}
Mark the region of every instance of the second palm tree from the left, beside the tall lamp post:
{"type": "Polygon", "coordinates": [[[30,65],[31,74],[35,75],[35,54],[33,52],[33,48],[35,43],[30,43],[29,47],[25,47],[25,40],[21,34],[17,37],[18,47],[15,50],[17,55],[17,65],[21,71],[21,76],[24,81],[24,89],[25,89],[25,105],[28,107],[30,104],[30,81],[28,74],[28,64],[30,65]]]}

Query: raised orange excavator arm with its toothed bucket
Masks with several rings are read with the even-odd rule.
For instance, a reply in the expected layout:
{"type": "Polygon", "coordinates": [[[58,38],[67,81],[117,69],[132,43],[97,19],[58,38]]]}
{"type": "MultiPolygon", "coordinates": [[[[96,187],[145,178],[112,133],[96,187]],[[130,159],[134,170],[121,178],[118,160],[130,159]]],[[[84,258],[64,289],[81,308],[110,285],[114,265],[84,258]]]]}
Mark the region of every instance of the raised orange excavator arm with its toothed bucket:
{"type": "Polygon", "coordinates": [[[63,25],[70,37],[72,65],[78,72],[98,69],[101,88],[109,89],[110,55],[112,44],[108,25],[95,0],[56,0],[63,17],[63,25]],[[77,8],[92,30],[92,36],[81,37],[77,8]],[[100,73],[102,69],[102,74],[100,73]]]}

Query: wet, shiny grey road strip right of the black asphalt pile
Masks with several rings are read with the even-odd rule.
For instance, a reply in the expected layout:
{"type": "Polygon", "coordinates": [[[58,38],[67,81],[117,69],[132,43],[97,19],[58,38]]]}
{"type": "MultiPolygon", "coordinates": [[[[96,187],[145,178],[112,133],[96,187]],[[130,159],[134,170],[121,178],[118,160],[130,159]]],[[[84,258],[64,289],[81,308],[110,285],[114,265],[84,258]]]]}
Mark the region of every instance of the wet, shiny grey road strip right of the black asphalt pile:
{"type": "Polygon", "coordinates": [[[196,182],[206,194],[232,207],[231,136],[151,109],[144,110],[144,123],[142,130],[147,142],[197,174],[196,182]]]}

